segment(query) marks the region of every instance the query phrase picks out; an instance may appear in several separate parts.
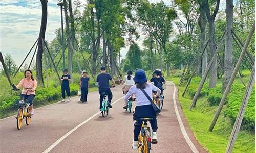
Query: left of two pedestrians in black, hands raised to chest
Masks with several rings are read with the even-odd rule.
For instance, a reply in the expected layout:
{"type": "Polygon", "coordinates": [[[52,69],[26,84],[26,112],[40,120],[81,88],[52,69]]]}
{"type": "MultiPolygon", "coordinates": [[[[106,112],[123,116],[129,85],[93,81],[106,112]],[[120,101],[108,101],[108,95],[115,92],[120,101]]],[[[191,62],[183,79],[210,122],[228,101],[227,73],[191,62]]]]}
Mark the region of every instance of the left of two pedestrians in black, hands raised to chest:
{"type": "Polygon", "coordinates": [[[65,102],[65,91],[67,92],[67,95],[70,99],[70,88],[69,88],[69,82],[71,81],[70,75],[68,74],[68,70],[64,69],[63,70],[63,75],[60,78],[61,81],[61,94],[62,94],[62,102],[65,102]]]}

